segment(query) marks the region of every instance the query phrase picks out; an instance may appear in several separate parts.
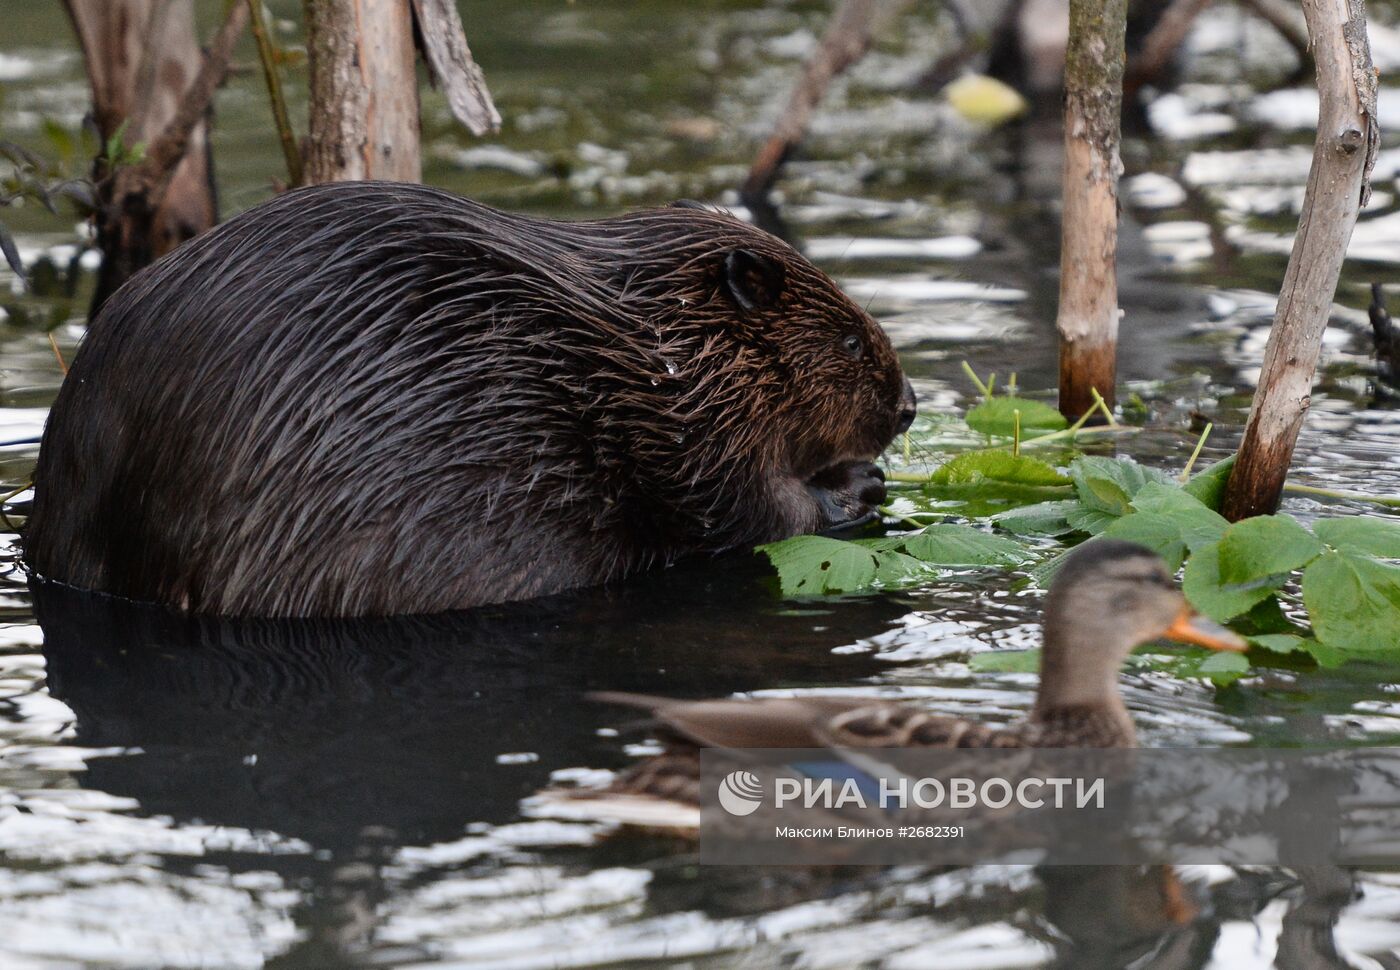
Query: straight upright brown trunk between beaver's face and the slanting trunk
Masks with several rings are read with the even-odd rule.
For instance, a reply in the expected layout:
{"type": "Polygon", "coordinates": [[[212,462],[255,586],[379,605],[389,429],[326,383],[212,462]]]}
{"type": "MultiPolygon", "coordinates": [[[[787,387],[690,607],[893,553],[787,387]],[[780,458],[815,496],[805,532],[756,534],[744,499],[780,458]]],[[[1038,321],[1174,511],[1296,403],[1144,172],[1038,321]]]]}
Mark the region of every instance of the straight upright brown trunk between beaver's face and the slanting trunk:
{"type": "Polygon", "coordinates": [[[1127,0],[1070,0],[1060,232],[1060,412],[1113,403],[1119,340],[1119,130],[1127,0]]]}

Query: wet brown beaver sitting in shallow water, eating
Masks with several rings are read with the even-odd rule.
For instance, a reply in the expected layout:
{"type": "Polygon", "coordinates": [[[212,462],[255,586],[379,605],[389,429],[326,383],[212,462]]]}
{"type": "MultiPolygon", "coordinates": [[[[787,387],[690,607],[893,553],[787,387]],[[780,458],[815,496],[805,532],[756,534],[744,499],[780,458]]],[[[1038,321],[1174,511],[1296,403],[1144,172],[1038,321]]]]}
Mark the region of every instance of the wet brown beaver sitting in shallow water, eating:
{"type": "Polygon", "coordinates": [[[24,556],[189,613],[465,609],[865,519],[913,417],[875,321],[729,214],[311,186],[91,322],[24,556]]]}

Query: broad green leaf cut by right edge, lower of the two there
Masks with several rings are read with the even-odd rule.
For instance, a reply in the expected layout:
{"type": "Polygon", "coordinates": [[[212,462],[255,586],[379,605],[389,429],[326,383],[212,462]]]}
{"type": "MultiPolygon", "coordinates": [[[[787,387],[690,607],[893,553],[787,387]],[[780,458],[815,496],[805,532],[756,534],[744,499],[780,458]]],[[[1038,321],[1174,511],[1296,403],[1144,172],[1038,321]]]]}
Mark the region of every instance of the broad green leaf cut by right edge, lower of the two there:
{"type": "Polygon", "coordinates": [[[1327,551],[1303,570],[1303,605],[1317,638],[1357,652],[1400,649],[1400,567],[1327,551]]]}

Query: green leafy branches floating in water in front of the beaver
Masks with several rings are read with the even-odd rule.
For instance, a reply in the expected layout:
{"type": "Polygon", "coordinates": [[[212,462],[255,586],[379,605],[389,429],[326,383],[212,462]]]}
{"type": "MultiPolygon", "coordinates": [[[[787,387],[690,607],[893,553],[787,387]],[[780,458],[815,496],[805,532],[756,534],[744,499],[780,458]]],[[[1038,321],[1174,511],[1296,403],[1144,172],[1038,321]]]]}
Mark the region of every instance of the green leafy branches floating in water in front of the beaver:
{"type": "MultiPolygon", "coordinates": [[[[1046,554],[1049,542],[1074,544],[1105,536],[1147,546],[1173,570],[1184,564],[1187,599],[1246,634],[1260,661],[1295,655],[1322,666],[1354,656],[1400,662],[1400,565],[1387,561],[1400,560],[1400,519],[1352,515],[1308,528],[1277,514],[1232,525],[1217,509],[1233,456],[1183,475],[1184,482],[1130,458],[1077,455],[1056,468],[1019,454],[1035,441],[1022,441],[1019,434],[1026,428],[1071,431],[1063,419],[1056,427],[1037,407],[1022,407],[1025,399],[993,398],[990,381],[977,384],[987,399],[969,413],[969,421],[977,414],[977,431],[1005,437],[1009,407],[1011,449],[965,452],[931,473],[892,477],[917,486],[914,511],[903,508],[910,493],[897,502],[897,516],[910,525],[956,514],[980,519],[980,528],[939,522],[882,539],[799,536],[762,546],[784,595],[855,593],[927,582],[948,568],[988,567],[1025,570],[1044,586],[1068,554],[1053,546],[1046,554]],[[1291,620],[1282,605],[1294,614],[1305,613],[1310,628],[1291,620]]],[[[1035,669],[1036,662],[1033,651],[973,658],[974,669],[1035,669]]],[[[1249,670],[1243,656],[1204,651],[1148,652],[1138,662],[1217,684],[1249,670]]]]}

